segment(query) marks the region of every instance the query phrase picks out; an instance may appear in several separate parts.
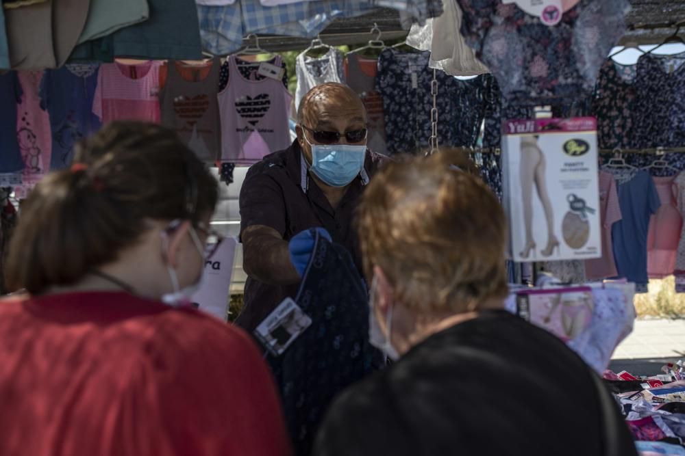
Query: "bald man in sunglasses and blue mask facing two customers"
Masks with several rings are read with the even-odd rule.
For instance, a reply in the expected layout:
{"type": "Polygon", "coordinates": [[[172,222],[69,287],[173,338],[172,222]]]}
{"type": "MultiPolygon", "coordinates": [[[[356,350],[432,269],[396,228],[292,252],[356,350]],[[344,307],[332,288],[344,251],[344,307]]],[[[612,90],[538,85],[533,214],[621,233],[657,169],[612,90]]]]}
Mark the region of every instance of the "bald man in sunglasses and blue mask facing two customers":
{"type": "Polygon", "coordinates": [[[250,333],[283,299],[297,295],[302,265],[288,251],[297,234],[324,228],[362,269],[353,214],[382,161],[366,149],[364,104],[346,85],[326,83],[302,98],[297,122],[297,140],[253,165],[240,191],[248,278],[236,323],[250,333]]]}

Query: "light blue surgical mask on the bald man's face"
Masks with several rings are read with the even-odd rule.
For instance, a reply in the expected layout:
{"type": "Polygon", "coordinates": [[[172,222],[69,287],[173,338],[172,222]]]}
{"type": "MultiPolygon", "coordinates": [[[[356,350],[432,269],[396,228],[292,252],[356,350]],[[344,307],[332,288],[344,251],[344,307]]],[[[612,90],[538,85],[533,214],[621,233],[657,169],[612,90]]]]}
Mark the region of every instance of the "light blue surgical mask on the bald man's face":
{"type": "Polygon", "coordinates": [[[312,144],[305,136],[305,141],[312,146],[312,167],[316,177],[331,187],[345,187],[356,178],[364,167],[366,146],[332,144],[320,146],[312,144]]]}

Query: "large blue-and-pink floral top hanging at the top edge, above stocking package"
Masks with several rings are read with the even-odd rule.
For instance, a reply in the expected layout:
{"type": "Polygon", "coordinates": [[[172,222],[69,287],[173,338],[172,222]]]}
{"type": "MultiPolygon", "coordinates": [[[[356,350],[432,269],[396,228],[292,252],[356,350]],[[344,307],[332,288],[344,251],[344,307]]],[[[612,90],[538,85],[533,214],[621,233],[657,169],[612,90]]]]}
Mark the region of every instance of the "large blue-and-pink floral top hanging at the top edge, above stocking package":
{"type": "Polygon", "coordinates": [[[462,35],[517,105],[546,105],[589,95],[612,46],[625,31],[627,0],[580,0],[560,23],[544,25],[515,3],[458,0],[462,35]]]}

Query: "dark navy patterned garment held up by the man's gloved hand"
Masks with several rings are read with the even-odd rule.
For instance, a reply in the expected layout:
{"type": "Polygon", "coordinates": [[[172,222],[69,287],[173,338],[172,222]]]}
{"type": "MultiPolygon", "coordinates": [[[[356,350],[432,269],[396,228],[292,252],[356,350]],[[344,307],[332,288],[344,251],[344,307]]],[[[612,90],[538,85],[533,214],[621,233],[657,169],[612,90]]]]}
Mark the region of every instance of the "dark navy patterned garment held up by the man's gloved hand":
{"type": "Polygon", "coordinates": [[[382,357],[369,343],[366,287],[345,247],[316,233],[295,299],[312,319],[281,356],[266,357],[280,390],[295,454],[310,454],[336,394],[366,377],[382,357]]]}

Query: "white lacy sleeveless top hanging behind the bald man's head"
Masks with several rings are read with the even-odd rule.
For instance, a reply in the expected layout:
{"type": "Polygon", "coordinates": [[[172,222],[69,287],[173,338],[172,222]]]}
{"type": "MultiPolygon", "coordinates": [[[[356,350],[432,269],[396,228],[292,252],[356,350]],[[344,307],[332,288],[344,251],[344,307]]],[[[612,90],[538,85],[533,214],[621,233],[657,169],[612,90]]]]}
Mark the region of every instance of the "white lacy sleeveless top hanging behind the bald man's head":
{"type": "Polygon", "coordinates": [[[329,49],[319,58],[308,57],[305,53],[301,53],[295,61],[295,73],[297,74],[295,107],[298,108],[302,98],[316,85],[327,82],[345,82],[343,54],[334,48],[329,49]]]}

